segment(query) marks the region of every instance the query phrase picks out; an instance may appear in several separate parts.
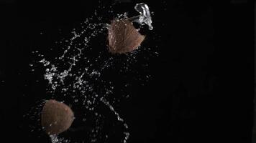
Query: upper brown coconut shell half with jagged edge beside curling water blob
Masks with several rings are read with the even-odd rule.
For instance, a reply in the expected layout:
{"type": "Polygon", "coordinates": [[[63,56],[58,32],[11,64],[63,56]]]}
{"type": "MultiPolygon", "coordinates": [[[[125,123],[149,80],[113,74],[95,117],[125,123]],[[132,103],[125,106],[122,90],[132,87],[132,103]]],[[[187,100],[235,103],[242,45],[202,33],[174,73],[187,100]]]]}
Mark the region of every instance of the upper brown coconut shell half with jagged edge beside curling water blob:
{"type": "Polygon", "coordinates": [[[109,26],[109,51],[113,54],[124,54],[134,49],[145,39],[137,29],[133,26],[132,22],[124,20],[112,20],[109,26]]]}

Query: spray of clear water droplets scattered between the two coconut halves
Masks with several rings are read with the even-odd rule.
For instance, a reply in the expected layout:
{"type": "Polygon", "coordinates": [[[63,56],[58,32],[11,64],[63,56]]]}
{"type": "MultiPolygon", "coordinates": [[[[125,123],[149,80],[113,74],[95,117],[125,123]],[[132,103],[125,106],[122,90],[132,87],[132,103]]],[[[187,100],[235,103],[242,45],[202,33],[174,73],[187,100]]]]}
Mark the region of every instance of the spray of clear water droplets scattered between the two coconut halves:
{"type": "MultiPolygon", "coordinates": [[[[120,15],[121,17],[122,15],[120,15]]],[[[96,107],[98,106],[97,99],[108,97],[112,94],[114,89],[111,86],[111,82],[106,82],[101,78],[101,72],[105,69],[111,68],[112,62],[114,61],[113,57],[108,59],[101,60],[102,54],[99,54],[97,58],[90,58],[88,56],[81,56],[85,52],[90,52],[92,49],[89,46],[89,41],[99,34],[102,34],[104,31],[103,24],[92,24],[90,20],[86,20],[84,24],[86,28],[82,32],[72,32],[74,36],[65,40],[65,43],[68,44],[66,49],[63,51],[63,54],[57,57],[54,61],[47,60],[44,56],[43,59],[40,59],[38,63],[42,64],[45,67],[44,77],[47,80],[49,88],[47,92],[52,95],[54,99],[63,99],[65,101],[71,100],[71,104],[82,104],[83,107],[87,110],[88,114],[95,113],[96,107]],[[90,29],[86,31],[85,29],[90,29]],[[100,29],[100,30],[99,30],[100,29]],[[76,40],[84,39],[82,46],[78,46],[76,40]],[[70,54],[73,51],[78,51],[77,54],[70,54]],[[65,64],[68,63],[68,66],[65,64]],[[66,68],[63,68],[66,67],[66,68]],[[105,85],[105,87],[102,87],[105,85]],[[58,96],[60,94],[61,96],[58,96]]],[[[109,102],[109,107],[112,105],[109,102]]],[[[111,108],[111,111],[114,109],[111,108]]],[[[118,115],[117,112],[114,111],[118,115]]],[[[98,114],[98,113],[97,113],[98,114]]],[[[101,115],[93,115],[95,117],[95,127],[91,129],[88,135],[89,142],[98,142],[101,139],[101,126],[100,122],[103,120],[101,115]]],[[[121,119],[119,115],[116,117],[119,121],[121,119]]],[[[83,117],[83,122],[86,122],[86,117],[83,117]]],[[[124,127],[127,127],[125,125],[124,127]]],[[[76,129],[73,129],[73,131],[76,129]]],[[[129,138],[129,132],[124,132],[127,134],[124,137],[124,142],[127,142],[129,138]]],[[[52,143],[68,143],[73,142],[73,139],[66,139],[61,137],[58,134],[50,136],[52,143]]]]}

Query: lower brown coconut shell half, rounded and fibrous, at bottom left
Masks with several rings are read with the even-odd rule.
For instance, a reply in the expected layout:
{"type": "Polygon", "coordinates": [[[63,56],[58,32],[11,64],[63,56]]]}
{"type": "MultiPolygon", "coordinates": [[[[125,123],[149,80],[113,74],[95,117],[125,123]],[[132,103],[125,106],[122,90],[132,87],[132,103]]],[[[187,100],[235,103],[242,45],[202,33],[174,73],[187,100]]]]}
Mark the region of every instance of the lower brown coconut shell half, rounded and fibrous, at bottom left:
{"type": "Polygon", "coordinates": [[[47,134],[64,132],[71,126],[73,119],[73,111],[61,102],[48,100],[42,108],[41,124],[47,134]]]}

